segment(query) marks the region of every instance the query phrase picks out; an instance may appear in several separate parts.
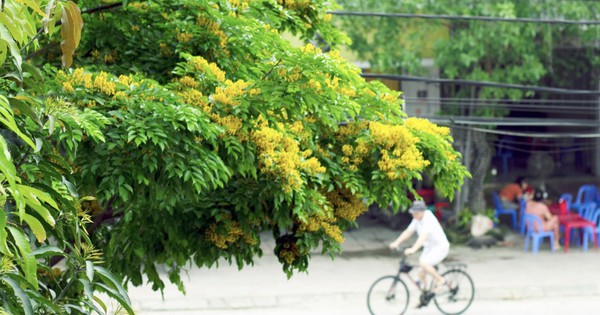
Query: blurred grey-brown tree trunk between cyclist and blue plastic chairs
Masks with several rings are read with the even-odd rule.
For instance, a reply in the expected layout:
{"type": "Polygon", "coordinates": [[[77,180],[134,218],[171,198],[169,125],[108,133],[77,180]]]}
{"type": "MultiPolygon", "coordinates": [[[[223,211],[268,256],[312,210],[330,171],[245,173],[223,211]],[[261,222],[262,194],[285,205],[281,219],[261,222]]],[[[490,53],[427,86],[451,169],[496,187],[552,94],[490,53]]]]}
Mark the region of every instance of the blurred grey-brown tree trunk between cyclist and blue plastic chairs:
{"type": "Polygon", "coordinates": [[[468,206],[473,212],[482,212],[485,210],[485,199],[483,194],[483,184],[490,168],[492,151],[487,143],[484,132],[473,131],[472,134],[473,150],[471,159],[471,175],[468,206]]]}

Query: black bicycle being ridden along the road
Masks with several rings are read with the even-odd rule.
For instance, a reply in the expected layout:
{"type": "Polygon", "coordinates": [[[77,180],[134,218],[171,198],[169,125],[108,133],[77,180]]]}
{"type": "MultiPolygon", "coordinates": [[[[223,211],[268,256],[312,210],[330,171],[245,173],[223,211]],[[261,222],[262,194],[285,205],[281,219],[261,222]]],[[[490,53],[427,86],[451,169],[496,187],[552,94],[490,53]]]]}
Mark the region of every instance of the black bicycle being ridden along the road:
{"type": "MultiPolygon", "coordinates": [[[[401,278],[404,274],[419,290],[419,308],[425,307],[434,301],[435,306],[446,315],[462,314],[466,311],[475,297],[475,285],[471,276],[465,271],[467,265],[464,263],[440,263],[445,267],[442,277],[446,280],[446,285],[434,292],[435,283],[431,282],[427,286],[419,282],[409,272],[414,268],[413,265],[406,262],[404,250],[401,250],[402,259],[400,268],[396,275],[387,275],[377,279],[369,288],[367,294],[367,306],[372,315],[385,314],[404,314],[408,309],[410,293],[404,280],[401,278]]],[[[437,265],[435,268],[439,270],[437,265]]]]}

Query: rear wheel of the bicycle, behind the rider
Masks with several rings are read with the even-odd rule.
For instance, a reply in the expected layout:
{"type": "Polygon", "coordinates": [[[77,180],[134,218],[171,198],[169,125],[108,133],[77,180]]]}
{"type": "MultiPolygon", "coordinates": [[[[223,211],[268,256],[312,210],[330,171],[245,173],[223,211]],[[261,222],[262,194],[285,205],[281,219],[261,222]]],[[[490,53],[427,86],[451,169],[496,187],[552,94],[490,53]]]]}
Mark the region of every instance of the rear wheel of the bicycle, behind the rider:
{"type": "Polygon", "coordinates": [[[463,270],[451,269],[442,274],[447,286],[435,294],[435,306],[446,315],[462,314],[475,297],[475,285],[463,270]]]}

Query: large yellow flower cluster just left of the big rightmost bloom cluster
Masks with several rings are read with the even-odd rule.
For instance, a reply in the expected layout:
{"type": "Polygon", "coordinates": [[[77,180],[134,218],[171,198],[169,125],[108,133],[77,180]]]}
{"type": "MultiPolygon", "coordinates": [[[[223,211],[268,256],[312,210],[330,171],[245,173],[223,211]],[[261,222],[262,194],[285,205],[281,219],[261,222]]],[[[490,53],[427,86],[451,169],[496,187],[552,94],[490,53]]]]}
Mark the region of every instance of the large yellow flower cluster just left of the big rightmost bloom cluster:
{"type": "Polygon", "coordinates": [[[298,143],[292,137],[268,127],[266,123],[253,132],[252,140],[259,151],[261,170],[280,178],[283,181],[282,188],[287,193],[302,185],[300,170],[310,175],[326,171],[316,158],[304,159],[307,151],[300,152],[298,143]]]}

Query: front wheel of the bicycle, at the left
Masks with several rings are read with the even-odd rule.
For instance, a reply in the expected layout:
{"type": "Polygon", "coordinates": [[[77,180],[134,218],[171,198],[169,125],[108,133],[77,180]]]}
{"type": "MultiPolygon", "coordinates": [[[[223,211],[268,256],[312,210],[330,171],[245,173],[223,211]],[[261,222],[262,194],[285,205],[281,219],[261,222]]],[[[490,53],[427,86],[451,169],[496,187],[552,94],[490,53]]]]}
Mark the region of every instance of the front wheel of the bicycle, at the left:
{"type": "Polygon", "coordinates": [[[396,276],[377,279],[369,288],[367,306],[372,315],[400,315],[408,307],[408,288],[396,276]]]}

